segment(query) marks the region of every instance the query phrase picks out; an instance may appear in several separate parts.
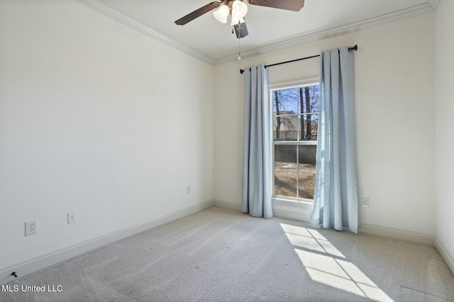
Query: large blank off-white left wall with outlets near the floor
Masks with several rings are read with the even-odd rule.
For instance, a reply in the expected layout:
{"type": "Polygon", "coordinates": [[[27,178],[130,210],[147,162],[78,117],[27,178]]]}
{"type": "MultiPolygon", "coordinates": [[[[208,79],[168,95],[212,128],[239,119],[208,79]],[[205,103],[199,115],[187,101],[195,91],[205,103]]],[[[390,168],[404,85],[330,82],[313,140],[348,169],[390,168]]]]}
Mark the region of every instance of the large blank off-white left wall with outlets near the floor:
{"type": "Polygon", "coordinates": [[[213,199],[213,66],[77,1],[0,6],[0,271],[213,199]]]}

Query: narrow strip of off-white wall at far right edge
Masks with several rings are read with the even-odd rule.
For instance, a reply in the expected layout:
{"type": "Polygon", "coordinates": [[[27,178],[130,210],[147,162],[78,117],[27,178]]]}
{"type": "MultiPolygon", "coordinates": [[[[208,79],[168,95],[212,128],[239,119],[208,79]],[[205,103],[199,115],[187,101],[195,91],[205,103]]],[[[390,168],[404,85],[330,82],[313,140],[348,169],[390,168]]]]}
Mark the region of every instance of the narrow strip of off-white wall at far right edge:
{"type": "Polygon", "coordinates": [[[436,11],[436,235],[454,272],[454,1],[436,11]]]}

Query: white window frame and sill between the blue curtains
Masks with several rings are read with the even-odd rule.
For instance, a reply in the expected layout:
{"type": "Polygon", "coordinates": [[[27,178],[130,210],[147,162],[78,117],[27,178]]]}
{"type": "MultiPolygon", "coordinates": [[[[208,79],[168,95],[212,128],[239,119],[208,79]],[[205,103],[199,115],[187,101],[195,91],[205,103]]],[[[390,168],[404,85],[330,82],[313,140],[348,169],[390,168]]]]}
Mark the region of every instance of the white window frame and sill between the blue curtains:
{"type": "MultiPolygon", "coordinates": [[[[272,204],[273,204],[273,210],[275,209],[282,209],[284,211],[290,211],[294,212],[299,211],[301,209],[306,209],[310,210],[312,208],[312,205],[314,204],[314,199],[307,199],[307,198],[301,198],[301,197],[289,197],[289,196],[282,196],[282,195],[275,195],[275,144],[277,143],[278,145],[298,145],[298,146],[304,146],[304,145],[311,145],[311,146],[316,146],[317,141],[275,141],[273,139],[273,127],[274,127],[274,122],[273,122],[273,102],[272,102],[272,97],[273,97],[273,92],[274,91],[279,91],[279,90],[284,90],[284,89],[291,89],[291,88],[300,88],[300,87],[306,87],[306,86],[316,86],[319,85],[319,79],[308,79],[304,81],[295,81],[295,82],[289,82],[289,83],[277,83],[277,84],[272,84],[268,86],[268,95],[269,95],[269,106],[270,106],[270,127],[271,127],[271,146],[270,148],[272,149],[272,204]]],[[[298,153],[297,153],[298,156],[298,153]]],[[[297,178],[297,185],[298,185],[298,178],[297,178]]],[[[304,214],[309,214],[309,213],[304,213],[304,214]]]]}

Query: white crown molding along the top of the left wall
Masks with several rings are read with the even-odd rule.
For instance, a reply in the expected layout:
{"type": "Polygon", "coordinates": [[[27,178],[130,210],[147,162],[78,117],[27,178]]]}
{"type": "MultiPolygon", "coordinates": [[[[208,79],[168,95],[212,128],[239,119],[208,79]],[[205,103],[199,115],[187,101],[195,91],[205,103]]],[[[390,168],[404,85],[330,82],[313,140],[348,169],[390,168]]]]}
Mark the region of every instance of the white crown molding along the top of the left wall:
{"type": "Polygon", "coordinates": [[[171,47],[174,47],[175,49],[181,52],[189,54],[190,56],[199,59],[202,62],[205,62],[210,65],[214,64],[214,60],[209,57],[206,57],[206,55],[201,54],[200,52],[197,52],[196,50],[193,50],[192,48],[187,47],[186,45],[183,45],[180,42],[172,40],[170,39],[170,37],[166,37],[161,33],[157,33],[157,31],[148,28],[142,23],[138,23],[137,21],[129,18],[128,16],[123,15],[123,13],[119,13],[118,11],[114,10],[113,8],[110,8],[109,6],[101,4],[99,1],[96,0],[76,0],[76,1],[81,4],[84,4],[85,6],[88,6],[89,8],[94,9],[95,11],[98,11],[99,13],[104,14],[105,16],[108,16],[118,22],[128,25],[130,28],[133,28],[140,33],[148,35],[149,37],[153,37],[153,39],[155,40],[158,40],[171,47]]]}

